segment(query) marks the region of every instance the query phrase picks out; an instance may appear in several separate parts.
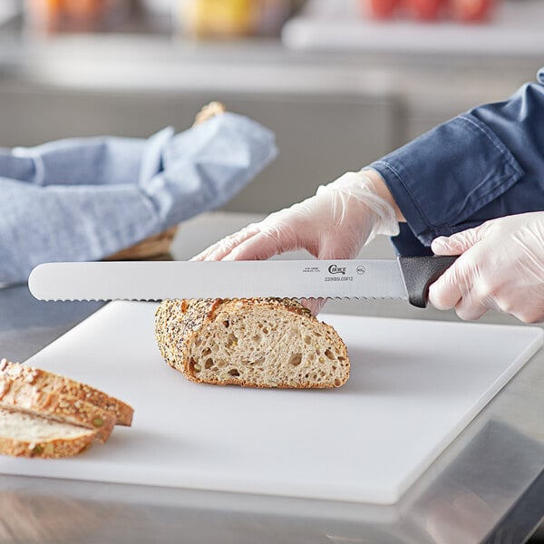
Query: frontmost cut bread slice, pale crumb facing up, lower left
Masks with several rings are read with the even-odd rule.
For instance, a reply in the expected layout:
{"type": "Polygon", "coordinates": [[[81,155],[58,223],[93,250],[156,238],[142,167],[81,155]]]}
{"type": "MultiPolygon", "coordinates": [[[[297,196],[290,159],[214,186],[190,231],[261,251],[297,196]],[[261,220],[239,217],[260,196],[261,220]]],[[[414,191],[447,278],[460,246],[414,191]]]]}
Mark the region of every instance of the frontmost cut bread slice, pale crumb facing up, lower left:
{"type": "Polygon", "coordinates": [[[91,446],[95,436],[91,429],[0,407],[0,453],[5,455],[70,457],[91,446]]]}

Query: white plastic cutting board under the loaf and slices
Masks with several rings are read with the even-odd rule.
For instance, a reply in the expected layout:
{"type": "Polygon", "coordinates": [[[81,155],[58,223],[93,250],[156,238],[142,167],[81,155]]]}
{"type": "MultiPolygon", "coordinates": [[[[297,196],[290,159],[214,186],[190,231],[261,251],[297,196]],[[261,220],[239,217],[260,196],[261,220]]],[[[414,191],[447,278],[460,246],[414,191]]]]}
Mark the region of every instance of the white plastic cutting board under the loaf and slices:
{"type": "Polygon", "coordinates": [[[335,390],[192,384],[155,344],[155,305],[115,302],[28,364],[131,403],[131,428],[0,472],[388,504],[542,344],[536,327],[321,316],[348,346],[335,390]]]}

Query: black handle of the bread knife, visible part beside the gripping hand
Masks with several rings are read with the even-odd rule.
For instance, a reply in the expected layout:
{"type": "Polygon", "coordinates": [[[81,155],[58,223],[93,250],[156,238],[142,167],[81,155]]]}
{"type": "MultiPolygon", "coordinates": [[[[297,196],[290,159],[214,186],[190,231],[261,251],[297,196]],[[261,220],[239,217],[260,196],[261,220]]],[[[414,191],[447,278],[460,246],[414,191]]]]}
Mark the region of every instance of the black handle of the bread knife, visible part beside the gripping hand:
{"type": "Polygon", "coordinates": [[[459,256],[397,257],[412,306],[427,307],[429,286],[452,266],[457,257],[459,256]]]}

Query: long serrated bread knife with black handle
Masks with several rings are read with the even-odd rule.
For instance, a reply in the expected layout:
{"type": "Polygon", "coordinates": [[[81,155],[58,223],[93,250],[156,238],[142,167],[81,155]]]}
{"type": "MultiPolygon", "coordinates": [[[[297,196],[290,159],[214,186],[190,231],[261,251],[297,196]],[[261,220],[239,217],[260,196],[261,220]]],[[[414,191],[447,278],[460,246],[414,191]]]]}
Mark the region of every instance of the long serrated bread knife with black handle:
{"type": "Polygon", "coordinates": [[[401,298],[425,307],[455,258],[44,263],[28,287],[41,300],[401,298]]]}

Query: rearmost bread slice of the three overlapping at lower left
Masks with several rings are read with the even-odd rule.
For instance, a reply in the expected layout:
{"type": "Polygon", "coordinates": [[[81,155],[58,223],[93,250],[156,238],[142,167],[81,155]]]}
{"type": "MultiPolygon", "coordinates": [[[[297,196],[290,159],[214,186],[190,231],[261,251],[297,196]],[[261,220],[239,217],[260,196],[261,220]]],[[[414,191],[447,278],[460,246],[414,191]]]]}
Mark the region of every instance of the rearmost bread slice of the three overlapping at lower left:
{"type": "Polygon", "coordinates": [[[65,376],[54,374],[27,364],[11,363],[0,360],[0,379],[2,376],[19,379],[32,384],[43,393],[67,395],[87,403],[92,403],[102,410],[115,414],[116,424],[131,425],[134,410],[119,399],[112,397],[88,384],[76,382],[65,376]]]}

